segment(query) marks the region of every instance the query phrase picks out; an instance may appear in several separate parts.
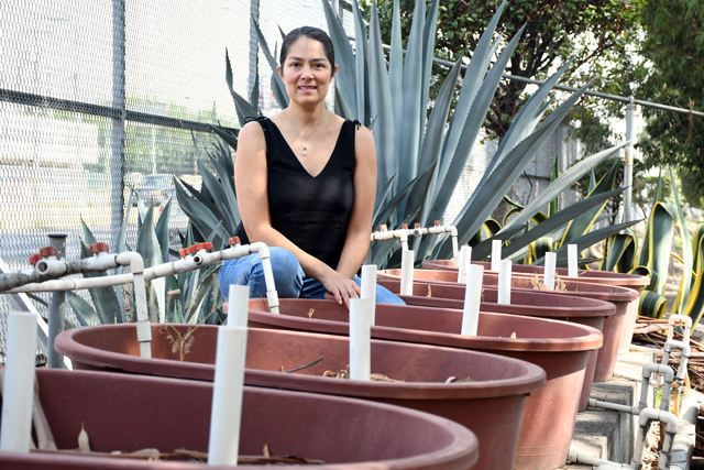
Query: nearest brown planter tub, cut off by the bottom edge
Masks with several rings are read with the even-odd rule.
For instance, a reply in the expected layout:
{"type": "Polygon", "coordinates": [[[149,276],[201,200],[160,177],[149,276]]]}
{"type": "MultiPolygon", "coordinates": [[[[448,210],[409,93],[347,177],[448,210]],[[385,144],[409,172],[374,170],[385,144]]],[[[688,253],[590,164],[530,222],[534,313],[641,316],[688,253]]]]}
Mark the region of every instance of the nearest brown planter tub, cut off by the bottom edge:
{"type": "MultiPolygon", "coordinates": [[[[84,426],[98,452],[208,451],[212,383],[48,369],[38,369],[36,376],[59,449],[75,449],[84,426]]],[[[464,469],[479,457],[476,437],[449,419],[380,403],[258,387],[244,389],[240,436],[242,456],[261,456],[266,444],[272,455],[323,460],[321,467],[328,469],[464,469]]],[[[45,452],[0,452],[0,467],[232,468],[45,452]]]]}

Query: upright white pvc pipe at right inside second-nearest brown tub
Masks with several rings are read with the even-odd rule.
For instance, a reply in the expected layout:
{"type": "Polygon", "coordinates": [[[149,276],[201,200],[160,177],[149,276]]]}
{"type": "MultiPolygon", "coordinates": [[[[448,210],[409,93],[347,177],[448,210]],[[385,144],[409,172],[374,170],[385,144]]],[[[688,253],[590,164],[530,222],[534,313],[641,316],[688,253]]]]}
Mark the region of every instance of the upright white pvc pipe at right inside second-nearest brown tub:
{"type": "Polygon", "coordinates": [[[371,298],[350,298],[350,379],[371,380],[372,324],[371,298]]]}

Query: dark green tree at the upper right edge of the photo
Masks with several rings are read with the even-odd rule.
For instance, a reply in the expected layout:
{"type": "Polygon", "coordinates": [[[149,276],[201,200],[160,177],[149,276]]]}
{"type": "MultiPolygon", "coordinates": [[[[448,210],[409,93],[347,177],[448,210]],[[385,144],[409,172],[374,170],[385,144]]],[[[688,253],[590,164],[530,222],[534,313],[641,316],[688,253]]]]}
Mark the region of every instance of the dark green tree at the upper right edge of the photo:
{"type": "MultiPolygon", "coordinates": [[[[647,32],[642,54],[651,73],[638,89],[639,98],[693,111],[704,111],[704,4],[690,0],[660,0],[642,9],[647,32]]],[[[650,167],[679,168],[682,193],[696,207],[704,204],[704,118],[644,108],[647,119],[639,147],[650,167]]]]}

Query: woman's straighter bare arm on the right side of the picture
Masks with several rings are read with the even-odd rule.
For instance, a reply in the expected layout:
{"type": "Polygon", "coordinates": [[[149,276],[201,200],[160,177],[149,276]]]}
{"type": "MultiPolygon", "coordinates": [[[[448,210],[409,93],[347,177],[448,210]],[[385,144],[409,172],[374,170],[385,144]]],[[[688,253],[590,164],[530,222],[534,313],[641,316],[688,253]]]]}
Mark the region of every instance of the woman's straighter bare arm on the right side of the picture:
{"type": "Polygon", "coordinates": [[[376,146],[372,132],[364,127],[356,131],[354,154],[354,206],[337,269],[346,277],[353,277],[358,273],[370,249],[376,198],[376,146]]]}

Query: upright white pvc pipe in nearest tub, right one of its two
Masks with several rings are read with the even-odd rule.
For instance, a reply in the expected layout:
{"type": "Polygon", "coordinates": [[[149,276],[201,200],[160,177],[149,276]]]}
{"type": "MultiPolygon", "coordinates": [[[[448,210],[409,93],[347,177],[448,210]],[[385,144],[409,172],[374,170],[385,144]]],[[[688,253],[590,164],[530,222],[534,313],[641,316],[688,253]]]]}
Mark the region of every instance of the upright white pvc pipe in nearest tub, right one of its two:
{"type": "Polygon", "coordinates": [[[238,464],[245,356],[246,327],[223,325],[218,328],[208,441],[209,466],[238,464]]]}

